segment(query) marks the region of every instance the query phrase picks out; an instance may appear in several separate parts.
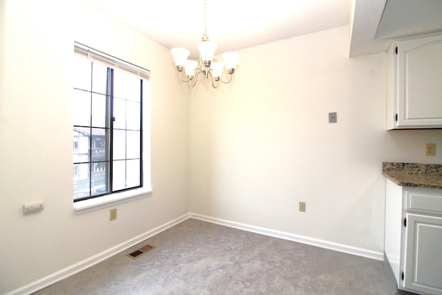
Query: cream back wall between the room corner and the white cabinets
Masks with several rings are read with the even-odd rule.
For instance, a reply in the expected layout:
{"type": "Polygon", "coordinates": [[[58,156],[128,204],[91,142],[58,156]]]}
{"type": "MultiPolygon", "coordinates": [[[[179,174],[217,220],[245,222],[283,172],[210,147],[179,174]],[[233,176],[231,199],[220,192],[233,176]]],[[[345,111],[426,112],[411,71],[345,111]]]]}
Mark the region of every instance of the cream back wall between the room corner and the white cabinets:
{"type": "Polygon", "coordinates": [[[349,59],[347,27],[239,53],[192,93],[191,211],[383,251],[381,162],[441,163],[442,131],[385,131],[386,54],[349,59]]]}

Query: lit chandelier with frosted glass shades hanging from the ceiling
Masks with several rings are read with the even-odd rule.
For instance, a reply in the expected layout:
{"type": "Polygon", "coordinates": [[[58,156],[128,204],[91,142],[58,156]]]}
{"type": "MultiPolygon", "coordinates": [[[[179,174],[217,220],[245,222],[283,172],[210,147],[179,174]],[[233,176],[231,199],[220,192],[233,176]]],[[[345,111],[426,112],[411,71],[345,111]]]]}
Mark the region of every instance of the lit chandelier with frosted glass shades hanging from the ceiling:
{"type": "Polygon", "coordinates": [[[209,79],[210,77],[213,88],[217,88],[219,82],[224,84],[231,82],[232,75],[235,73],[236,61],[238,60],[239,55],[238,53],[224,53],[222,55],[225,68],[229,74],[229,79],[224,81],[221,79],[224,64],[213,61],[215,49],[216,44],[209,41],[209,37],[207,37],[207,0],[204,0],[204,32],[202,34],[201,42],[198,44],[198,50],[200,50],[200,62],[187,59],[190,52],[185,48],[173,48],[171,50],[180,79],[183,82],[189,82],[192,87],[196,85],[198,76],[201,73],[206,79],[209,79]],[[186,77],[184,78],[181,77],[183,70],[186,74],[186,77]]]}

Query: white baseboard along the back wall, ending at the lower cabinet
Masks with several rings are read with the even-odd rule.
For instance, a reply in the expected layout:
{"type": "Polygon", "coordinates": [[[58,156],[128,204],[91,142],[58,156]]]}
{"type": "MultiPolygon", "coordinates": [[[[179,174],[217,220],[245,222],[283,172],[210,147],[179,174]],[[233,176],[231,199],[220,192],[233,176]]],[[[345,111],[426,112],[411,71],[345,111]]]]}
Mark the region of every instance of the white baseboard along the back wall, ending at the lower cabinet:
{"type": "Polygon", "coordinates": [[[296,234],[289,234],[284,231],[276,231],[273,229],[266,229],[264,227],[255,227],[253,225],[245,225],[244,223],[233,222],[220,218],[213,218],[210,216],[204,216],[198,213],[190,213],[190,218],[203,220],[207,222],[216,223],[218,225],[224,225],[226,227],[233,227],[235,229],[242,229],[244,231],[251,231],[256,234],[262,234],[265,236],[271,236],[274,238],[282,238],[284,240],[291,240],[293,242],[300,242],[302,244],[312,245],[320,248],[330,249],[346,254],[352,254],[356,256],[362,256],[365,258],[371,258],[374,260],[384,260],[384,254],[381,251],[372,251],[368,249],[352,247],[349,245],[338,244],[336,242],[329,242],[327,240],[320,240],[318,238],[309,238],[307,236],[299,236],[296,234]]]}

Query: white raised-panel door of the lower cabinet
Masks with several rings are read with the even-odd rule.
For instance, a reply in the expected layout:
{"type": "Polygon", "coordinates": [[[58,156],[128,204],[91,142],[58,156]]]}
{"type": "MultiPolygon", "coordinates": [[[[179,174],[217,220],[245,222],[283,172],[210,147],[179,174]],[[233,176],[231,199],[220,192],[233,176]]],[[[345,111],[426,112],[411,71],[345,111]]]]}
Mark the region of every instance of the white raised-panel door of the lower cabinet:
{"type": "Polygon", "coordinates": [[[407,213],[403,287],[442,292],[442,218],[407,213]]]}

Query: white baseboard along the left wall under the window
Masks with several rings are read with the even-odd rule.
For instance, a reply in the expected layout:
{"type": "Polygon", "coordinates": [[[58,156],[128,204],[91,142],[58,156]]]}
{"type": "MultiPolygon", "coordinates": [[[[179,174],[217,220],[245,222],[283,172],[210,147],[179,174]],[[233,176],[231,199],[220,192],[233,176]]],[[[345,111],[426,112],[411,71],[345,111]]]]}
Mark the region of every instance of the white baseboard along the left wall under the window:
{"type": "Polygon", "coordinates": [[[45,276],[44,278],[40,278],[39,280],[35,280],[34,282],[29,283],[28,285],[24,285],[22,287],[14,289],[11,292],[6,293],[5,295],[12,295],[12,294],[22,295],[22,294],[35,293],[41,289],[44,289],[45,287],[48,287],[52,284],[59,282],[60,280],[63,280],[64,278],[68,278],[69,276],[73,276],[74,274],[77,274],[78,272],[81,272],[82,270],[87,269],[88,267],[92,267],[93,265],[96,265],[97,263],[100,263],[103,260],[111,258],[115,254],[118,254],[121,251],[124,251],[130,247],[133,247],[133,246],[137,245],[138,243],[142,242],[143,240],[151,238],[151,236],[155,236],[156,234],[160,234],[160,232],[162,232],[166,229],[169,229],[169,227],[173,227],[174,225],[177,225],[178,223],[183,222],[186,219],[189,219],[189,217],[190,217],[190,214],[186,213],[183,216],[180,216],[178,218],[175,218],[174,220],[166,222],[164,225],[160,225],[159,227],[155,227],[155,229],[151,229],[150,231],[146,231],[145,233],[140,234],[139,236],[135,236],[134,238],[131,238],[130,240],[126,240],[119,245],[111,247],[105,251],[102,251],[102,252],[94,255],[94,256],[90,256],[89,258],[86,258],[85,260],[81,260],[78,263],[75,263],[75,264],[70,265],[64,269],[59,270],[58,272],[52,273],[48,276],[45,276]]]}

